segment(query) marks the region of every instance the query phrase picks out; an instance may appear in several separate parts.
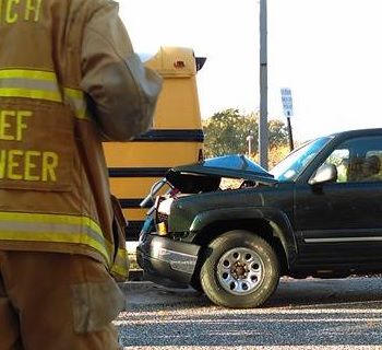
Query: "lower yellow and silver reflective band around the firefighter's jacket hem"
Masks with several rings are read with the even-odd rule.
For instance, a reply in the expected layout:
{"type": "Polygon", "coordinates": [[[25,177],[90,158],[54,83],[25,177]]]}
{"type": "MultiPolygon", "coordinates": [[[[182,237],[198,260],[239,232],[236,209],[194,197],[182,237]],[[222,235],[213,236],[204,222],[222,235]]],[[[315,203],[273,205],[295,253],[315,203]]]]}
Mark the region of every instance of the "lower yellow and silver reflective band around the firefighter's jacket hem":
{"type": "Polygon", "coordinates": [[[0,240],[85,244],[110,266],[111,244],[87,217],[0,212],[0,240]]]}

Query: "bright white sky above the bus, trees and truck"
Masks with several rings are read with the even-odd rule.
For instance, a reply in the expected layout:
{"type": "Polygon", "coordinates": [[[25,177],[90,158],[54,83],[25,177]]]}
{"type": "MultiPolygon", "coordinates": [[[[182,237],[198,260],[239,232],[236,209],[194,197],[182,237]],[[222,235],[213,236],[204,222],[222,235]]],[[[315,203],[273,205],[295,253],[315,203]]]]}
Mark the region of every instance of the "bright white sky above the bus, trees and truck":
{"type": "MultiPolygon", "coordinates": [[[[202,118],[260,108],[259,0],[119,0],[136,52],[191,47],[202,118]]],[[[382,0],[267,0],[268,119],[286,122],[280,89],[291,90],[294,139],[382,127],[382,0]]]]}

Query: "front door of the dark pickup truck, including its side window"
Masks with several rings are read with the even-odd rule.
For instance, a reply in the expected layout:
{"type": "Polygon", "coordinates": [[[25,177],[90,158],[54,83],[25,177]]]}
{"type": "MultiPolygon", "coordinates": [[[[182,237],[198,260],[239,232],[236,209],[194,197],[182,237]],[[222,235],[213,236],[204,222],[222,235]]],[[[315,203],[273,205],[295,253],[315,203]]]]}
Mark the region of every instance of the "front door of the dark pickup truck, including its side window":
{"type": "Polygon", "coordinates": [[[326,163],[337,166],[337,182],[296,190],[296,229],[301,262],[382,262],[382,137],[347,140],[326,163]]]}

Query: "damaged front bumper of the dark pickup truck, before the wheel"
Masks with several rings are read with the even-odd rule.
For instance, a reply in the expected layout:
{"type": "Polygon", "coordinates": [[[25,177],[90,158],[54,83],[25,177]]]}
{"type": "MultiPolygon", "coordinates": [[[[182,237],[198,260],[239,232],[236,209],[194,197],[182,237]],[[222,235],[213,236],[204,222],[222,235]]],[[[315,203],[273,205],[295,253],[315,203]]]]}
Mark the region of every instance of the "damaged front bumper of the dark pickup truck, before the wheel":
{"type": "Polygon", "coordinates": [[[144,234],[136,248],[136,260],[145,279],[168,287],[187,287],[195,270],[199,250],[195,244],[144,234]]]}

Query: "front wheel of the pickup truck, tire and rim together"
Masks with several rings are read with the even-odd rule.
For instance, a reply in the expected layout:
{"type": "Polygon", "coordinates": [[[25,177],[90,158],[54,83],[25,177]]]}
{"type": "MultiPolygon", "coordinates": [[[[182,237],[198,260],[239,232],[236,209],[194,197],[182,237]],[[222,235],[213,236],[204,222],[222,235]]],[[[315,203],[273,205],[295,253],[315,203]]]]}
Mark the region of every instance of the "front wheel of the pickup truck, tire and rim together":
{"type": "Polygon", "coordinates": [[[235,230],[212,241],[201,268],[204,293],[225,307],[256,307],[276,290],[279,262],[274,249],[249,231],[235,230]]]}

